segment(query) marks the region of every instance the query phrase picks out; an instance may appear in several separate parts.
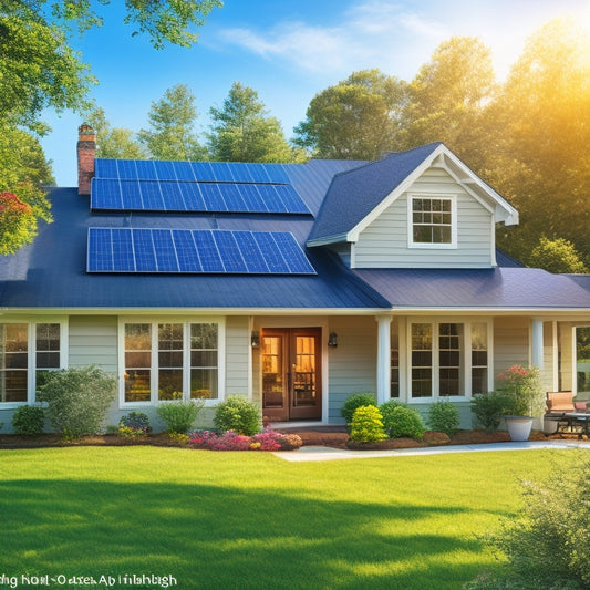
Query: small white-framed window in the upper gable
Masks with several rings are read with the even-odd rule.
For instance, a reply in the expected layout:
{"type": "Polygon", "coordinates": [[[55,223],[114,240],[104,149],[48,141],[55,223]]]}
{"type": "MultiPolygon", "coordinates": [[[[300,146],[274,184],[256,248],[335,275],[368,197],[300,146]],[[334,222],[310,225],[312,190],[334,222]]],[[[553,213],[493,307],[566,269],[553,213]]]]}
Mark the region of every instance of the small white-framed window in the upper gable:
{"type": "Polygon", "coordinates": [[[414,248],[456,248],[455,197],[410,195],[408,242],[414,248]]]}

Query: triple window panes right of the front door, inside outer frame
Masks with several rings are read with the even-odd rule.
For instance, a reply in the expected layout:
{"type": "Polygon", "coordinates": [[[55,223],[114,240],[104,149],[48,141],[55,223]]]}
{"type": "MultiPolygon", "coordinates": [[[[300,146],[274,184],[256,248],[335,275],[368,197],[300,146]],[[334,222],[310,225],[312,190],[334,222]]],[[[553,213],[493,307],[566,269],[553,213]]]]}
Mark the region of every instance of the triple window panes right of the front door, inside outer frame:
{"type": "Polygon", "coordinates": [[[462,397],[489,389],[487,321],[411,322],[410,397],[462,397]]]}

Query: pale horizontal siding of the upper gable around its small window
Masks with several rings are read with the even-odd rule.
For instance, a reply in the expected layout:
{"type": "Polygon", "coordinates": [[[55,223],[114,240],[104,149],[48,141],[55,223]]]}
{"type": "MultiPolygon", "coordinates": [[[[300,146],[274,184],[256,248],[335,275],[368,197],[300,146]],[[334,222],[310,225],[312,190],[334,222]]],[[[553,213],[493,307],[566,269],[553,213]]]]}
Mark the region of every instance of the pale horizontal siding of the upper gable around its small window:
{"type": "Polygon", "coordinates": [[[377,219],[353,246],[355,268],[486,268],[491,266],[493,214],[442,168],[427,169],[377,219]],[[457,199],[457,248],[410,248],[410,194],[455,196],[457,199]]]}

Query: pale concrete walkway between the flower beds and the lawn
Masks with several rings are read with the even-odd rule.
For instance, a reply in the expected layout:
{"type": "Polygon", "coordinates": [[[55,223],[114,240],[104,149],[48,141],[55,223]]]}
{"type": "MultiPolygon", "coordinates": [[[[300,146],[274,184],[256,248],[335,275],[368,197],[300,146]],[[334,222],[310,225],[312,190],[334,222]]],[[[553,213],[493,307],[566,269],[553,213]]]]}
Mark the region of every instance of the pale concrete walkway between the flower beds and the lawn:
{"type": "Polygon", "coordinates": [[[395,448],[387,451],[349,451],[328,446],[302,446],[291,453],[275,453],[277,457],[292,463],[310,460],[369,459],[375,457],[407,457],[416,455],[442,455],[444,453],[485,453],[488,451],[530,451],[538,448],[586,448],[587,441],[530,441],[526,443],[489,443],[482,445],[429,446],[423,448],[395,448]]]}

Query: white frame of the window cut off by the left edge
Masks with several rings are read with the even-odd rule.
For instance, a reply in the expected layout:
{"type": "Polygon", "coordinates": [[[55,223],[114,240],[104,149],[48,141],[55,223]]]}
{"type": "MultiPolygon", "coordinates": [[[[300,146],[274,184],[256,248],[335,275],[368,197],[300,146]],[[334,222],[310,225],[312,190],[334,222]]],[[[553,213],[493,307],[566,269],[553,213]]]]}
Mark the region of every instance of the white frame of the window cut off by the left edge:
{"type": "MultiPolygon", "coordinates": [[[[35,404],[37,402],[37,324],[58,323],[60,325],[60,366],[55,371],[68,366],[68,318],[66,317],[40,317],[33,319],[1,318],[0,323],[27,324],[27,401],[25,402],[0,402],[0,410],[14,410],[22,405],[35,404]]],[[[51,369],[48,369],[51,371],[51,369]]]]}

